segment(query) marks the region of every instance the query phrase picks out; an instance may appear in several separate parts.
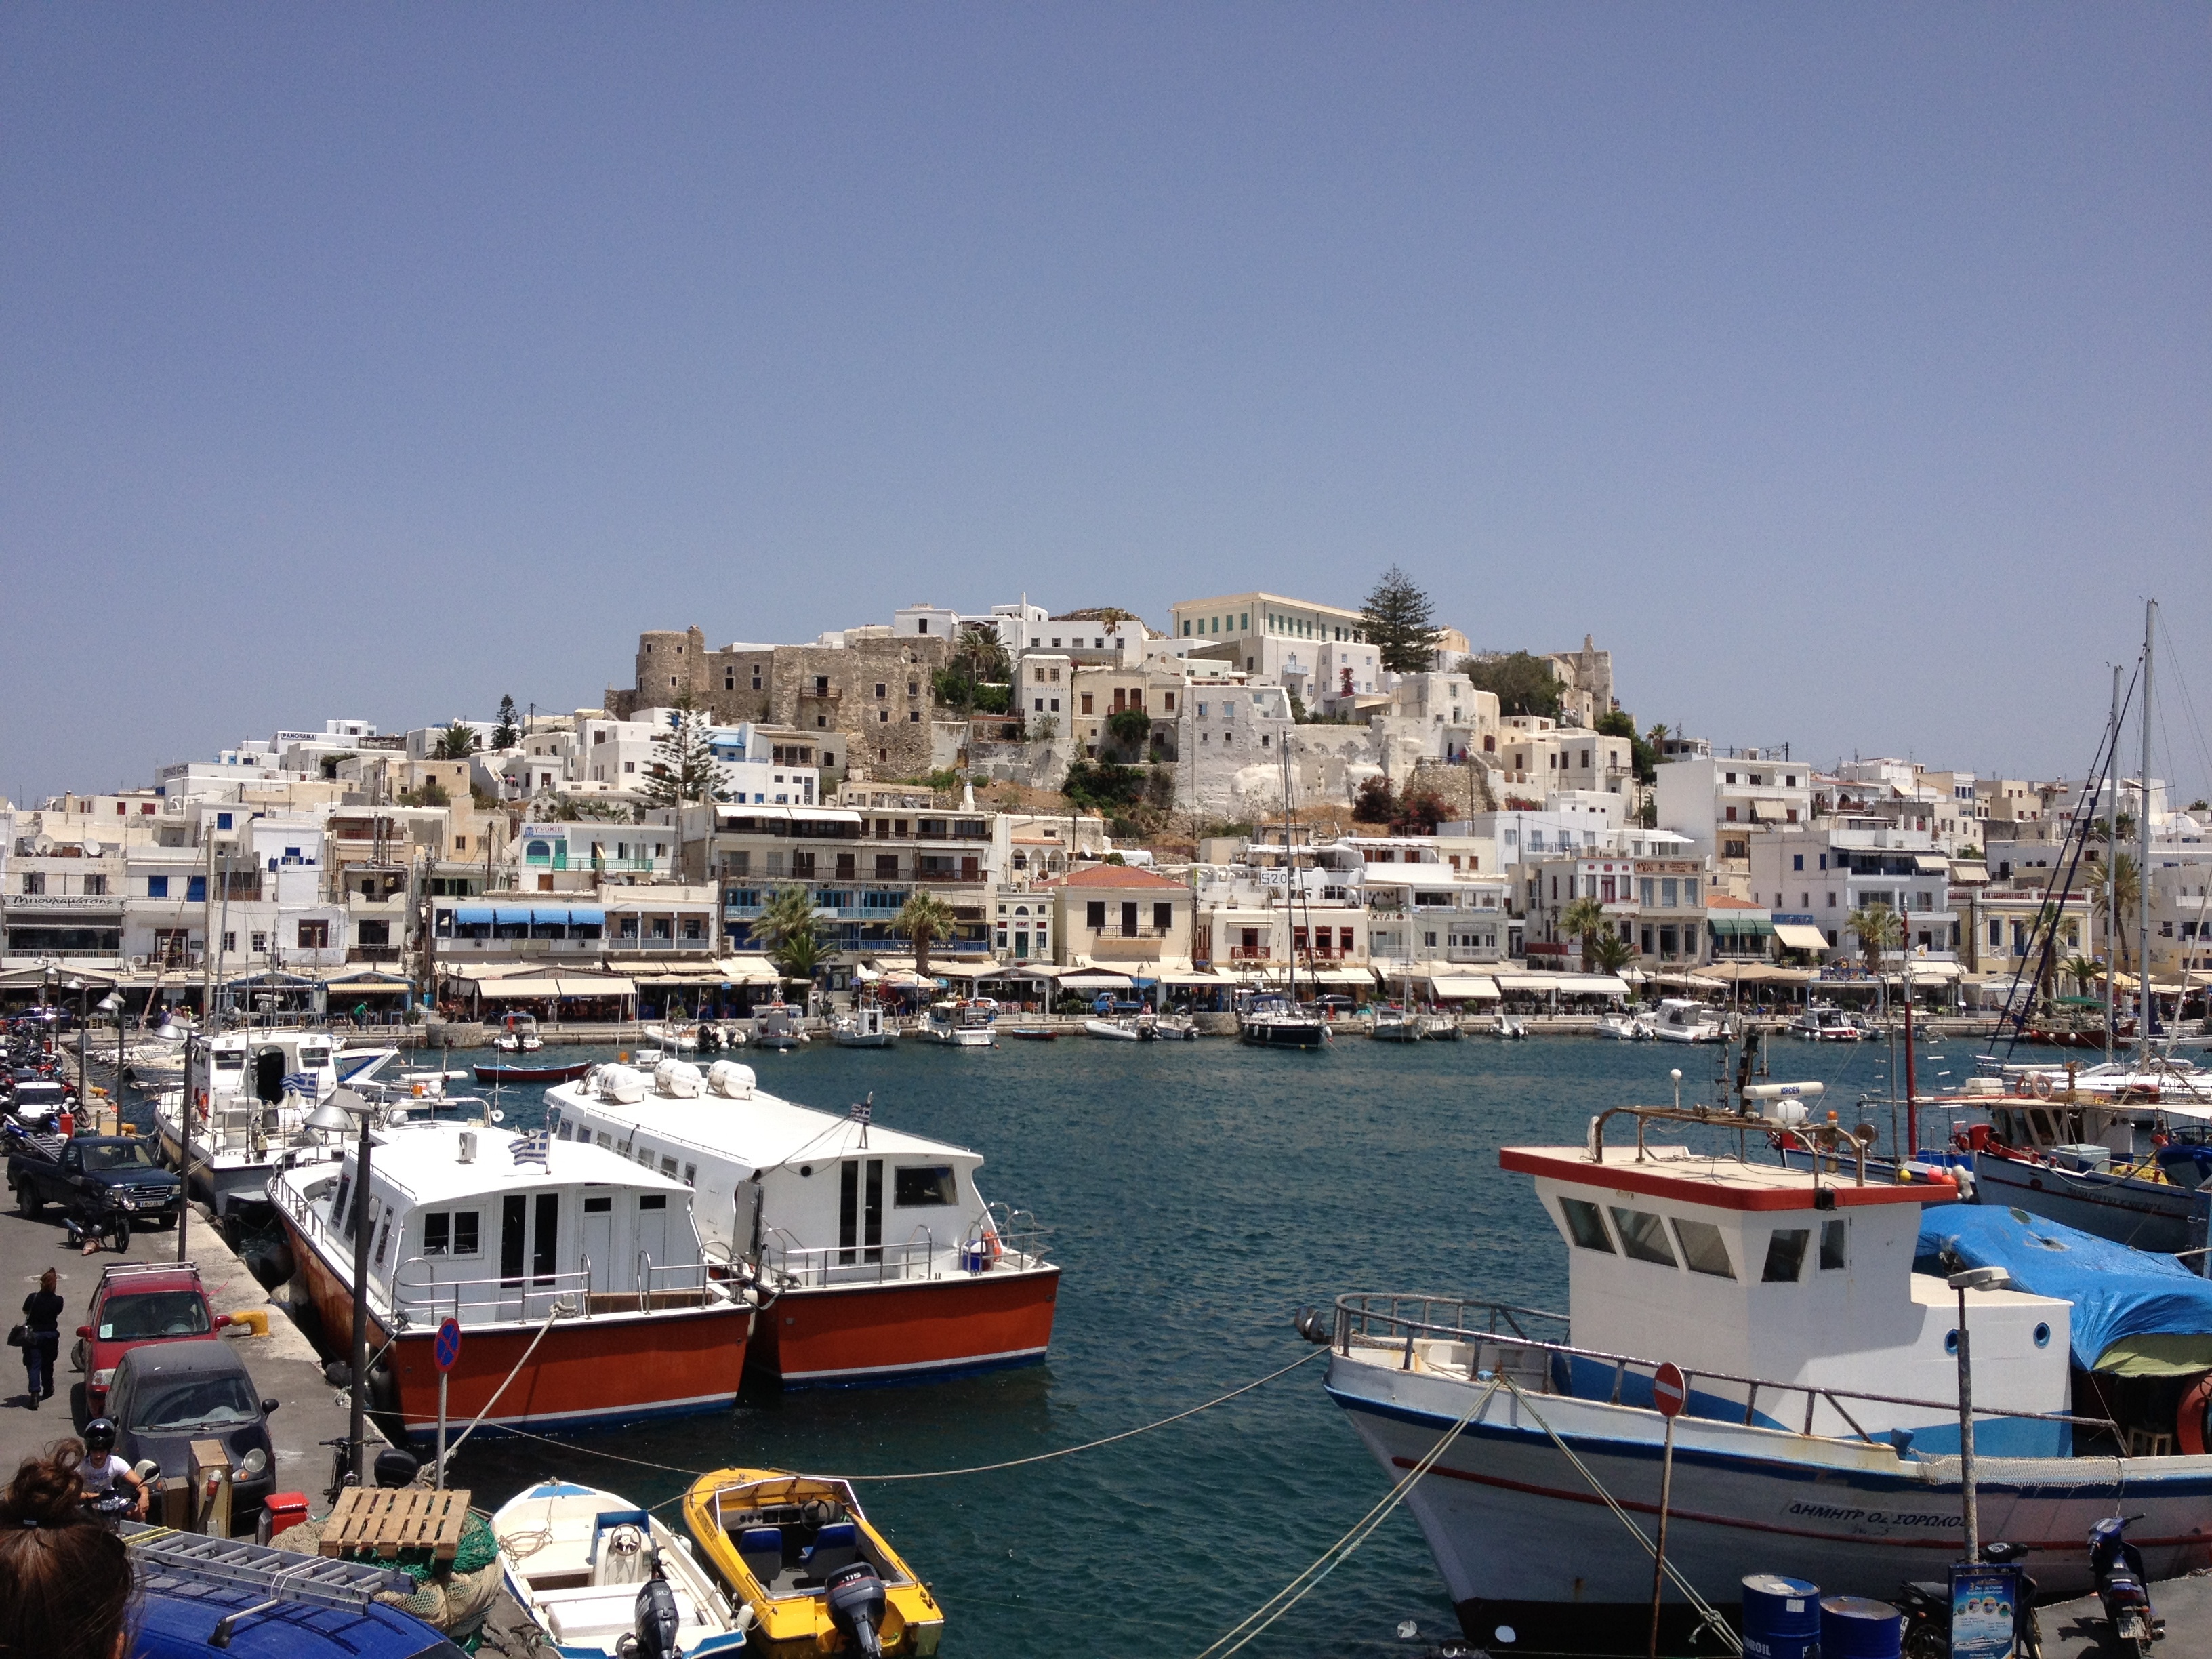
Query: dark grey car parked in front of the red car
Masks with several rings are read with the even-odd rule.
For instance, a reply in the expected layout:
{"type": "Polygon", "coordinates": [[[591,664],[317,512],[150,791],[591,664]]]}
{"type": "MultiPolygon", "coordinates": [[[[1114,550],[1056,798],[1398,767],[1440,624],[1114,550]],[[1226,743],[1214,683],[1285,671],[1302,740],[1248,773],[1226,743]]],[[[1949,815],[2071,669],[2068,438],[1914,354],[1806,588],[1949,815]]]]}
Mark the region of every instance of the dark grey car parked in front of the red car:
{"type": "Polygon", "coordinates": [[[237,1471],[230,1528],[250,1533],[261,1500],[276,1491],[274,1400],[254,1391],[246,1363],[223,1343],[148,1343],[124,1354],[108,1391],[115,1455],[153,1460],[155,1482],[192,1475],[192,1442],[221,1440],[237,1471]]]}

